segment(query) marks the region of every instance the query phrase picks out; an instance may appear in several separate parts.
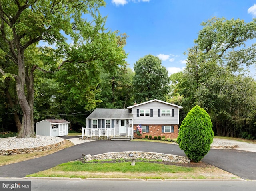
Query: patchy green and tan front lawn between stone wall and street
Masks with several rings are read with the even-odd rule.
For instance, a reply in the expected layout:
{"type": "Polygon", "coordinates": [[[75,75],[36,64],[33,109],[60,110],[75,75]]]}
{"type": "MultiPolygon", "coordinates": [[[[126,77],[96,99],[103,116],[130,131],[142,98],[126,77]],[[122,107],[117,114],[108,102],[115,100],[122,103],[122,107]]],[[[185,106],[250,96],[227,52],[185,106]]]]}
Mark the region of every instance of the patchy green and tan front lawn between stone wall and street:
{"type": "Polygon", "coordinates": [[[70,177],[70,178],[137,178],[137,179],[205,179],[237,178],[216,167],[182,167],[149,163],[147,161],[119,163],[68,162],[27,177],[70,177]]]}

